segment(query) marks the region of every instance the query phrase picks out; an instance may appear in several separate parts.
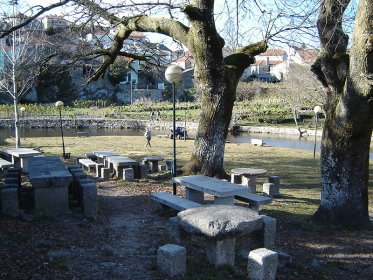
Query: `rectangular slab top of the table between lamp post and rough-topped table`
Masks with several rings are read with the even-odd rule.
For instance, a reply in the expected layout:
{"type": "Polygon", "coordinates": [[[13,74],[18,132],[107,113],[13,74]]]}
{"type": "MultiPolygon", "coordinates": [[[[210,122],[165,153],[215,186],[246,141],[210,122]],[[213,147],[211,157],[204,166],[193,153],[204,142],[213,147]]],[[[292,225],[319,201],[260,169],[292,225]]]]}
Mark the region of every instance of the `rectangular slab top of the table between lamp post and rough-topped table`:
{"type": "Polygon", "coordinates": [[[217,197],[229,197],[247,193],[246,187],[203,175],[174,177],[173,181],[187,188],[217,197]]]}

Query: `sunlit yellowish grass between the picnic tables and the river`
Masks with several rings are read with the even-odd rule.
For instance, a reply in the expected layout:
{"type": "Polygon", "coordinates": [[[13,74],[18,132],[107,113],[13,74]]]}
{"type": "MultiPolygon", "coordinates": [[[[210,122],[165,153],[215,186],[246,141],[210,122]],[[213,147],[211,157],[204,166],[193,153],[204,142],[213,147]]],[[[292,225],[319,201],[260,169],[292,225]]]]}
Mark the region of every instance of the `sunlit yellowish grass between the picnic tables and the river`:
{"type": "MultiPolygon", "coordinates": [[[[21,140],[21,146],[40,149],[45,155],[61,155],[60,137],[38,137],[21,140]]],[[[145,156],[163,156],[172,159],[173,143],[171,139],[153,137],[152,147],[145,148],[146,140],[141,136],[94,136],[89,138],[65,137],[66,152],[71,153],[73,162],[86,152],[108,150],[141,161],[145,156]]],[[[190,158],[194,141],[177,141],[178,166],[184,165],[190,158]]],[[[6,146],[14,146],[13,139],[6,139],[6,146]]],[[[371,164],[372,166],[372,164],[371,164]]],[[[318,155],[313,158],[312,151],[258,147],[248,143],[226,143],[224,167],[227,172],[235,167],[266,169],[267,175],[281,178],[283,198],[265,206],[265,211],[292,220],[304,220],[313,215],[320,201],[320,164],[318,155]],[[284,207],[286,211],[284,211],[284,207]]],[[[371,175],[373,168],[371,167],[371,175]]],[[[258,178],[261,186],[266,178],[258,178]]],[[[370,184],[370,209],[373,210],[373,190],[370,184]]],[[[258,187],[258,191],[261,188],[258,187]]]]}

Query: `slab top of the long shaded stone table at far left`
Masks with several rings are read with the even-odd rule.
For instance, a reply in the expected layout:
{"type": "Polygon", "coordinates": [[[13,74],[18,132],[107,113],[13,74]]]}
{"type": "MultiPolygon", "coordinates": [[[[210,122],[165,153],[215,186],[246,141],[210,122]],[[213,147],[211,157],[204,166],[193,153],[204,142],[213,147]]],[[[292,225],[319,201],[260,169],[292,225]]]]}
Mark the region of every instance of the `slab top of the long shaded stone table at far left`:
{"type": "Polygon", "coordinates": [[[29,180],[33,187],[58,187],[69,184],[72,175],[59,157],[32,157],[29,160],[29,180]]]}

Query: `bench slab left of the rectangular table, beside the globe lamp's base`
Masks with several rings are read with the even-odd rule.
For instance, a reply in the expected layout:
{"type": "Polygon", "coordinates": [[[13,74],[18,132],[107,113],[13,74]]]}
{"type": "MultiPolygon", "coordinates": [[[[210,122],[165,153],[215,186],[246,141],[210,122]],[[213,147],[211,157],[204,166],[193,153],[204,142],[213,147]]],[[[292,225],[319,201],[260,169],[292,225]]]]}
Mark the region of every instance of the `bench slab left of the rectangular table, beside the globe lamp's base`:
{"type": "Polygon", "coordinates": [[[199,207],[201,204],[168,192],[150,194],[150,198],[173,209],[184,211],[189,208],[199,207]]]}

